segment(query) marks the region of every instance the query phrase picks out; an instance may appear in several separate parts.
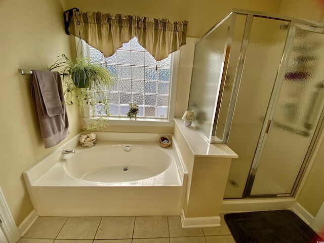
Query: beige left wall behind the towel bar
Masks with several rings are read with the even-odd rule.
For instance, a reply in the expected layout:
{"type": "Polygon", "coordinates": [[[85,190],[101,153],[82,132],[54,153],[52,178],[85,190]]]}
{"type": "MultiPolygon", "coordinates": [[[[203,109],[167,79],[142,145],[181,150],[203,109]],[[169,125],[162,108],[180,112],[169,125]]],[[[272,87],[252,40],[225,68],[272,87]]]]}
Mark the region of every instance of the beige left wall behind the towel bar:
{"type": "MultiPolygon", "coordinates": [[[[17,69],[47,69],[57,56],[70,56],[63,4],[60,0],[0,1],[0,186],[17,225],[33,210],[22,172],[57,148],[44,148],[29,75],[18,75],[17,69]]],[[[68,116],[70,138],[80,125],[77,112],[69,111],[68,116]]]]}

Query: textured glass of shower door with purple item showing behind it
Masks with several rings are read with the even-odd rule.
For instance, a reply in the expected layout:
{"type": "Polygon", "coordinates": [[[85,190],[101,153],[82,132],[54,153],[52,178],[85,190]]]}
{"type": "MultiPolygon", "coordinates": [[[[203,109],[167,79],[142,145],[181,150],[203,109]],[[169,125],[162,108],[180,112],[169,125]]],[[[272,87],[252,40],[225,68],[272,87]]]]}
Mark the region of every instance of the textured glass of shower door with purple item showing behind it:
{"type": "Polygon", "coordinates": [[[324,106],[324,34],[297,29],[251,195],[292,193],[324,106]]]}

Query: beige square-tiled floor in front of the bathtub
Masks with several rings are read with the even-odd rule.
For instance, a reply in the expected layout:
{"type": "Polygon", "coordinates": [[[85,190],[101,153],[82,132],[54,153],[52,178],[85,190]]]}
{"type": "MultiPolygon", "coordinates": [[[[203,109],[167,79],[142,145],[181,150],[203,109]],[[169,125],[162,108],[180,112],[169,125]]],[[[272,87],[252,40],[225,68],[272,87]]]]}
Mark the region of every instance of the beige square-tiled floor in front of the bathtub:
{"type": "Polygon", "coordinates": [[[38,217],[18,243],[235,243],[221,227],[183,229],[179,216],[38,217]]]}

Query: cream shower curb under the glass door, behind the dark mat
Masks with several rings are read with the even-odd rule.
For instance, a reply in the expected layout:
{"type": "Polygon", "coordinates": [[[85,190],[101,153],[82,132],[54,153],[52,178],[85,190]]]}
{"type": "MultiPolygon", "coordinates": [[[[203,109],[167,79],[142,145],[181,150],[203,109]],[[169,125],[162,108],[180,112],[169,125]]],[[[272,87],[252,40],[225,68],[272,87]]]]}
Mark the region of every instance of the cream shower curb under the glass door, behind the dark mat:
{"type": "Polygon", "coordinates": [[[221,212],[249,212],[292,209],[295,198],[274,199],[224,199],[221,212]]]}

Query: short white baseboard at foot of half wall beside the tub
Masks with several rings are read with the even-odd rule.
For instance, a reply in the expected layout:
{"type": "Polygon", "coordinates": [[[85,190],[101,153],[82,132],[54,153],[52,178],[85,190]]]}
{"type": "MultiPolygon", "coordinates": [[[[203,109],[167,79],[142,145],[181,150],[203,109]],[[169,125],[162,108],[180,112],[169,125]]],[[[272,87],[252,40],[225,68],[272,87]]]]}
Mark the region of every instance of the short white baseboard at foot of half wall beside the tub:
{"type": "Polygon", "coordinates": [[[182,228],[200,228],[221,226],[219,216],[186,218],[183,210],[180,215],[182,228]]]}

